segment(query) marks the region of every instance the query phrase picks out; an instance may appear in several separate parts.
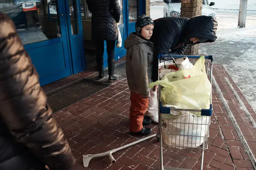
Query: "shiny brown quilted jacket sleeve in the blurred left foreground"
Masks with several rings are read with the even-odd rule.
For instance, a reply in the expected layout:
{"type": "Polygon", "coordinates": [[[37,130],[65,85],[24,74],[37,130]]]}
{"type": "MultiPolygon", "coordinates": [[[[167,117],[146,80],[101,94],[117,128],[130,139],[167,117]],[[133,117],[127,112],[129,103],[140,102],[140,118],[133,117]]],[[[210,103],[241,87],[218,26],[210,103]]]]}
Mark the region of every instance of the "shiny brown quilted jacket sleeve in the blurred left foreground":
{"type": "Polygon", "coordinates": [[[14,139],[50,170],[71,170],[75,159],[51,114],[13,21],[0,14],[0,116],[14,139]]]}

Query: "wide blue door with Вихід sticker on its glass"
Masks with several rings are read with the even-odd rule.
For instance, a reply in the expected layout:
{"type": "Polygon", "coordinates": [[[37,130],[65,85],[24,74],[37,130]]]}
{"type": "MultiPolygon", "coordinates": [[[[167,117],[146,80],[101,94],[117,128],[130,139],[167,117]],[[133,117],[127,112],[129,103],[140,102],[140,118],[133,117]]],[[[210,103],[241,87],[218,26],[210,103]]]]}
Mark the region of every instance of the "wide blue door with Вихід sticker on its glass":
{"type": "Polygon", "coordinates": [[[64,0],[10,0],[0,2],[9,15],[45,85],[71,75],[64,0]],[[28,3],[29,2],[29,3],[28,3]],[[33,8],[26,9],[26,4],[33,8]]]}

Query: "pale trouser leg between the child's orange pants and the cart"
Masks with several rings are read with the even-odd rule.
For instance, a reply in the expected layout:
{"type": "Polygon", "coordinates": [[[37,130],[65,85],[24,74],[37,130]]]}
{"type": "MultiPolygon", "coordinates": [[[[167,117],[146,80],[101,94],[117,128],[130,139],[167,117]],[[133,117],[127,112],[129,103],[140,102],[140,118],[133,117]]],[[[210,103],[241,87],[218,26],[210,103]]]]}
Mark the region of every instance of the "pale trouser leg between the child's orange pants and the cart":
{"type": "Polygon", "coordinates": [[[153,122],[158,123],[159,117],[158,117],[157,90],[156,91],[150,90],[148,110],[145,115],[149,116],[153,122]]]}

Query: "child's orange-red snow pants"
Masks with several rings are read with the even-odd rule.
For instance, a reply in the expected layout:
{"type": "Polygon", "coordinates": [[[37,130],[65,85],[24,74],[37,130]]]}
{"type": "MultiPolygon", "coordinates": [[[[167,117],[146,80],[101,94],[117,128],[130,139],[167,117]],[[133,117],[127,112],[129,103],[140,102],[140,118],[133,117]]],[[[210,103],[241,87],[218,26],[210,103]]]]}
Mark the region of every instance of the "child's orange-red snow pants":
{"type": "Polygon", "coordinates": [[[141,98],[139,94],[131,92],[130,107],[130,132],[139,132],[142,130],[144,114],[148,110],[149,99],[141,98]]]}

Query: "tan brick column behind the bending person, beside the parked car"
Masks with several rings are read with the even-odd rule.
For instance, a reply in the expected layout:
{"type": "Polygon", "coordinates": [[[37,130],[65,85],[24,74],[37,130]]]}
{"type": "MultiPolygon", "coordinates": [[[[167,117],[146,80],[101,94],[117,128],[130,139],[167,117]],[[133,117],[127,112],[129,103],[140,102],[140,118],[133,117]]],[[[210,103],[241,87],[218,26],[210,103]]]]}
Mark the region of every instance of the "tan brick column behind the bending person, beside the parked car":
{"type": "MultiPolygon", "coordinates": [[[[193,18],[202,15],[202,0],[181,0],[180,17],[193,18]]],[[[198,55],[199,46],[189,46],[185,55],[198,55]]]]}

